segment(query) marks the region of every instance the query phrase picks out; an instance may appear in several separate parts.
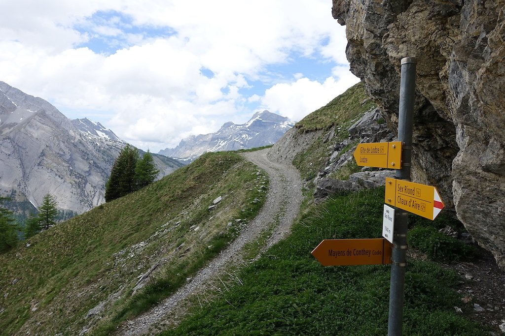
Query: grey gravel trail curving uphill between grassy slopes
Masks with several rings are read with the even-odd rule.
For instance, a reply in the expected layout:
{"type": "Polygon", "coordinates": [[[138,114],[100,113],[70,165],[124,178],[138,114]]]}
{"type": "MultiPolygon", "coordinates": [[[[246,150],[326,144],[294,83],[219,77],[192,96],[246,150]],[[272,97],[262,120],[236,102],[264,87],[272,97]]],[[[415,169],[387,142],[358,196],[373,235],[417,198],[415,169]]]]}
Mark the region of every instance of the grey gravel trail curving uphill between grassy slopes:
{"type": "Polygon", "coordinates": [[[174,319],[173,312],[178,310],[178,315],[184,312],[184,309],[178,309],[178,304],[191,293],[203,289],[213,277],[217,277],[221,272],[224,272],[230,262],[232,264],[243,263],[240,253],[242,247],[247,242],[254,241],[264,230],[275,224],[277,218],[279,218],[279,223],[262,251],[289,233],[301,204],[301,178],[293,166],[272,162],[267,158],[268,151],[269,149],[264,149],[243,154],[247,160],[264,169],[270,179],[265,205],[258,216],[247,224],[247,227],[241,231],[240,235],[228,248],[211,260],[206,267],[201,269],[175,294],[163,300],[148,312],[123,322],[117,330],[117,335],[155,334],[161,331],[158,330],[159,327],[163,329],[164,325],[176,322],[180,316],[175,316],[174,319]]]}

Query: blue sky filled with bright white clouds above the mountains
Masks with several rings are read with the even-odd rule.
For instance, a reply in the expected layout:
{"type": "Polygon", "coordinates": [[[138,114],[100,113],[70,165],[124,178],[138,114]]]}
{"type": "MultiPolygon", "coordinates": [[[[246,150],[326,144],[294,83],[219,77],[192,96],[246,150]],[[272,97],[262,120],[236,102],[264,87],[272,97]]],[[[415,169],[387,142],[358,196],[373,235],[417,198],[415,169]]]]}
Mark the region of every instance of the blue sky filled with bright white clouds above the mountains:
{"type": "Polygon", "coordinates": [[[157,152],[268,109],[296,121],[358,82],[330,0],[19,0],[0,80],[157,152]]]}

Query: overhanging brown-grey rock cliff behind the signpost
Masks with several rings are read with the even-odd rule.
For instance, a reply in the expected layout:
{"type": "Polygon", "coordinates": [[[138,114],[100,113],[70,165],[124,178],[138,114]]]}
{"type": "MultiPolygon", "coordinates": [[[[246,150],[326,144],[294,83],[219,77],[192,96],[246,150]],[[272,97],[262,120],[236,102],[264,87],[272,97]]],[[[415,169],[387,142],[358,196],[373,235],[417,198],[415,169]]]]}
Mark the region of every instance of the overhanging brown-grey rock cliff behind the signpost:
{"type": "Polygon", "coordinates": [[[505,4],[333,0],[351,71],[397,129],[402,57],[417,63],[413,179],[505,269],[505,4]]]}

